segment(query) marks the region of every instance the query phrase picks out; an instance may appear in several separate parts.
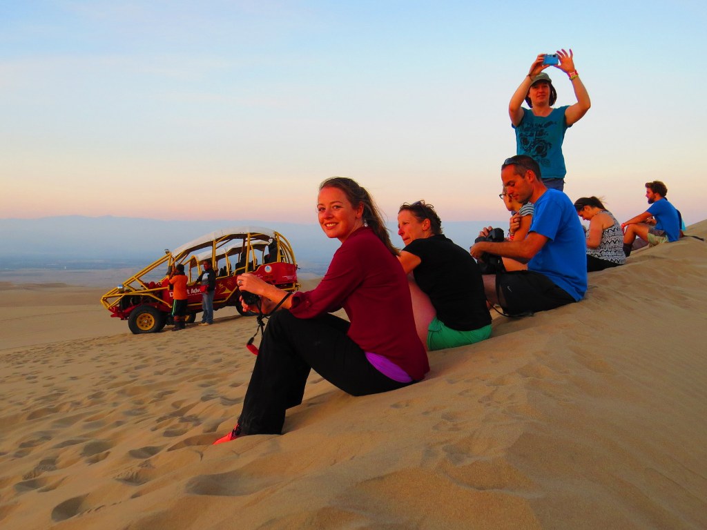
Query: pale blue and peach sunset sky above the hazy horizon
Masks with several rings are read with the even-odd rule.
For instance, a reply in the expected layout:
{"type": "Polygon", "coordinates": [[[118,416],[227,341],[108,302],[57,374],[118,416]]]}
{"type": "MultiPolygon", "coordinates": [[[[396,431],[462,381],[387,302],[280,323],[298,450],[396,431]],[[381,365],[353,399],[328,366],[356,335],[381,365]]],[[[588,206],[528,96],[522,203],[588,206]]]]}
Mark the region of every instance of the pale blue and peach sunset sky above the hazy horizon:
{"type": "Polygon", "coordinates": [[[443,222],[505,219],[508,100],[561,48],[592,100],[564,141],[568,196],[626,220],[660,179],[706,218],[706,4],[543,6],[2,1],[0,218],[315,223],[318,184],[345,176],[392,220],[419,199],[443,222]]]}

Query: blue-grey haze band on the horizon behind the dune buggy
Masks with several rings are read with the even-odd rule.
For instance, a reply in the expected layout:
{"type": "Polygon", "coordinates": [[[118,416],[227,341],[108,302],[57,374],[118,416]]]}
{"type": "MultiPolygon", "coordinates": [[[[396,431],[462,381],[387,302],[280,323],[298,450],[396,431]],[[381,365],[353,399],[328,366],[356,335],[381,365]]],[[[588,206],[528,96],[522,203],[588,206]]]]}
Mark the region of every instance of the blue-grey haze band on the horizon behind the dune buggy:
{"type": "MultiPolygon", "coordinates": [[[[506,221],[493,223],[505,228],[506,221]]],[[[264,220],[156,220],[128,217],[61,216],[0,219],[0,270],[123,269],[141,267],[200,235],[237,226],[276,230],[291,243],[303,273],[321,275],[339,247],[319,225],[264,220]]],[[[484,223],[444,223],[445,234],[458,245],[473,244],[484,223]]],[[[390,224],[394,245],[402,247],[390,224]]]]}

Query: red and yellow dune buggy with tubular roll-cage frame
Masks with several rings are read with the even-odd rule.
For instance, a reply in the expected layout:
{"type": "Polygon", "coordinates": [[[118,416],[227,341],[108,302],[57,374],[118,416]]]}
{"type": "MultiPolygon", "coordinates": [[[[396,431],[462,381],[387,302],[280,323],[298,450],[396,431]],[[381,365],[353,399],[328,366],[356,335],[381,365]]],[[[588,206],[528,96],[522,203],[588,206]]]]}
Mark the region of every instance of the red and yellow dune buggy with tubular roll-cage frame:
{"type": "Polygon", "coordinates": [[[245,227],[217,230],[170,251],[131,276],[100,299],[110,316],[128,321],[134,334],[156,333],[172,322],[172,291],[167,277],[177,264],[187,274],[187,322],[201,311],[201,290],[194,282],[203,261],[216,271],[214,311],[233,306],[245,314],[240,303],[238,276],[250,272],[277,287],[294,291],[297,264],[292,247],[283,235],[267,228],[245,227]]]}

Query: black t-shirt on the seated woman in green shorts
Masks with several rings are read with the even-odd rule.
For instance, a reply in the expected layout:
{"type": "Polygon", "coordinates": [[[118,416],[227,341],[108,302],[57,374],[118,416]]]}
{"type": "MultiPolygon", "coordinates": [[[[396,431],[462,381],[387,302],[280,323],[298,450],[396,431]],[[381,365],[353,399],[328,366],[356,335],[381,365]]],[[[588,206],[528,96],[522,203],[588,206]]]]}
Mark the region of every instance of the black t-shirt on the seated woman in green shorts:
{"type": "Polygon", "coordinates": [[[470,331],[491,324],[484,281],[477,262],[445,235],[414,240],[403,252],[422,262],[412,271],[445,326],[470,331]]]}

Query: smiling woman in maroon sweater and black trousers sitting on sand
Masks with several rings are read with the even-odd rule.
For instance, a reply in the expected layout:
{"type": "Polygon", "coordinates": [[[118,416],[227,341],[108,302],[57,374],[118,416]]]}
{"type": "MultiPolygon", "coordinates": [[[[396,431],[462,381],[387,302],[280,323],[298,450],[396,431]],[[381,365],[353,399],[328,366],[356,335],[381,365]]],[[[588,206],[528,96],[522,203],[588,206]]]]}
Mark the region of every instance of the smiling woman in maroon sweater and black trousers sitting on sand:
{"type": "Polygon", "coordinates": [[[327,179],[317,213],[327,237],[341,242],[317,288],[286,298],[257,276],[239,278],[241,290],[264,301],[285,298],[284,310],[265,329],[238,424],[215,443],[281,434],[285,411],[302,402],[312,368],[354,396],[405,387],[429,370],[407,277],[366,189],[351,179],[327,179]],[[349,322],[330,314],[342,307],[349,322]]]}

